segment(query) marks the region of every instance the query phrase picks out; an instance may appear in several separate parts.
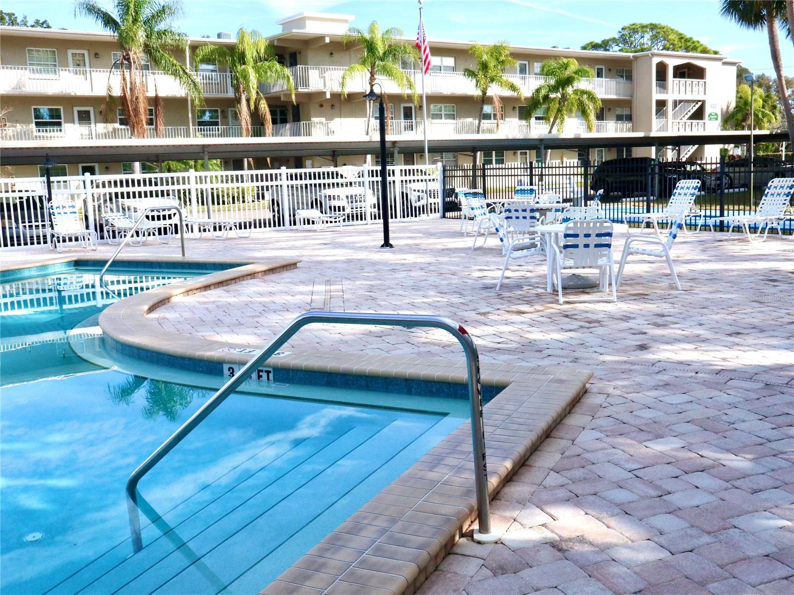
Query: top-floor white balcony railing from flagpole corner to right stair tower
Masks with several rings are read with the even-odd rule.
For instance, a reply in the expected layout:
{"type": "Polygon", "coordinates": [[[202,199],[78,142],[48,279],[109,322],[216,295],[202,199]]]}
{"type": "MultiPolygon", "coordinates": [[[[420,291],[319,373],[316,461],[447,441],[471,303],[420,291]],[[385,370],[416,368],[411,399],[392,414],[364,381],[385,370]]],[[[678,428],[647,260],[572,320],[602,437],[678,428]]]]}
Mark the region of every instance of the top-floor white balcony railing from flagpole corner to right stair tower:
{"type": "MultiPolygon", "coordinates": [[[[297,91],[332,91],[341,92],[341,66],[293,66],[290,67],[292,79],[297,91]]],[[[422,73],[405,71],[414,83],[417,91],[422,89],[422,73]]],[[[544,82],[544,77],[536,75],[506,75],[522,90],[526,96],[531,94],[544,82]]],[[[366,75],[357,75],[350,79],[347,91],[351,94],[364,94],[369,90],[366,75]]],[[[383,82],[387,94],[400,94],[401,91],[391,80],[383,82]]],[[[602,97],[631,97],[633,83],[623,79],[583,79],[580,85],[584,89],[595,91],[602,97]]],[[[430,71],[425,76],[425,89],[429,94],[442,95],[475,95],[474,83],[462,72],[430,71]]],[[[287,86],[281,83],[260,83],[263,94],[285,93],[287,86]]]]}

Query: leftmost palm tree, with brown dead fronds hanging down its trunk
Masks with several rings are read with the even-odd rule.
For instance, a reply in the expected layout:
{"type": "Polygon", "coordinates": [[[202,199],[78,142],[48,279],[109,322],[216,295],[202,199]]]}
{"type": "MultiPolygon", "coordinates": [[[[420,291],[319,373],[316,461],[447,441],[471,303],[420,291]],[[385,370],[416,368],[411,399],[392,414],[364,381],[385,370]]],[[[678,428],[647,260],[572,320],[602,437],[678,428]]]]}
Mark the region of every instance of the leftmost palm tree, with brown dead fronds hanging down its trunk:
{"type": "MultiPolygon", "coordinates": [[[[96,0],[78,0],[75,16],[81,14],[94,21],[110,33],[114,33],[121,47],[118,59],[118,74],[121,76],[119,97],[115,97],[108,79],[105,117],[116,113],[117,101],[135,138],[146,136],[148,123],[148,98],[143,74],[143,59],[167,75],[171,75],[187,91],[192,102],[200,102],[201,85],[187,66],[172,55],[177,50],[184,52],[187,37],[171,28],[172,20],[181,13],[177,0],[116,0],[115,14],[102,8],[96,0]]],[[[114,67],[116,63],[114,63],[114,67]]],[[[155,132],[162,136],[163,105],[155,89],[155,132]]],[[[135,166],[133,165],[133,168],[135,166]]],[[[140,171],[140,163],[137,164],[140,171]]]]}

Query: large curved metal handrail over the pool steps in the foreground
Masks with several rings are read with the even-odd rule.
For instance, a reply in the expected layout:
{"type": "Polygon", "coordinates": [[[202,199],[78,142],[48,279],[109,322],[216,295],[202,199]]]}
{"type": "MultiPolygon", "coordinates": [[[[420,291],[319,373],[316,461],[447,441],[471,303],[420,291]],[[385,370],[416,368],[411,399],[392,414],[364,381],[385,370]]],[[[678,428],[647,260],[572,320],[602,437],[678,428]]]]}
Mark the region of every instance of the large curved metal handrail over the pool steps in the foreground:
{"type": "MultiPolygon", "coordinates": [[[[165,455],[179,444],[185,436],[190,434],[197,426],[210,415],[218,405],[225,401],[237,388],[245,382],[251,374],[256,372],[256,368],[267,361],[280,347],[283,346],[301,328],[307,324],[384,324],[387,326],[401,326],[406,328],[425,327],[441,328],[453,335],[463,347],[466,353],[466,364],[468,368],[468,394],[471,401],[472,411],[472,447],[474,451],[474,484],[477,497],[477,514],[479,520],[479,536],[483,540],[495,540],[488,537],[491,533],[491,516],[488,509],[488,464],[485,460],[485,434],[483,429],[483,401],[480,394],[480,356],[477,354],[477,347],[465,328],[460,324],[440,316],[425,316],[421,314],[380,314],[380,313],[346,313],[346,312],[308,312],[295,317],[286,328],[283,329],[267,347],[256,354],[249,363],[245,364],[237,374],[230,378],[228,382],[209,401],[202,405],[189,420],[172,434],[168,440],[160,444],[156,451],[152,452],[148,458],[141,463],[127,479],[127,496],[129,497],[130,528],[133,529],[133,541],[136,537],[137,528],[137,547],[140,550],[140,520],[137,518],[136,491],[138,482],[152,467],[160,462],[165,455]],[[134,515],[134,518],[133,518],[134,515]]],[[[480,540],[480,539],[478,539],[480,540]]]]}

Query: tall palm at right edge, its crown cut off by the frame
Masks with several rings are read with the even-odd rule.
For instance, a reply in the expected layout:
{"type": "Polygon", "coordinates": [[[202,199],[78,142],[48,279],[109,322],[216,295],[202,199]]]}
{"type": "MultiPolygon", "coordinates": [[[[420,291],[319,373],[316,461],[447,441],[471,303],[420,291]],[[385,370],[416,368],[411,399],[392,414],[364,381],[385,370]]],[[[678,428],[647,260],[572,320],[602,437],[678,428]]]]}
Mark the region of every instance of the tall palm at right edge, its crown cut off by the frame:
{"type": "Polygon", "coordinates": [[[783,57],[781,56],[781,43],[777,36],[778,24],[788,36],[792,35],[785,0],[723,0],[720,13],[723,17],[734,21],[745,29],[761,30],[766,28],[766,35],[769,37],[769,53],[772,55],[772,64],[777,77],[777,98],[781,102],[783,113],[786,116],[788,140],[794,146],[794,117],[792,117],[792,105],[788,101],[788,91],[783,78],[783,57]]]}

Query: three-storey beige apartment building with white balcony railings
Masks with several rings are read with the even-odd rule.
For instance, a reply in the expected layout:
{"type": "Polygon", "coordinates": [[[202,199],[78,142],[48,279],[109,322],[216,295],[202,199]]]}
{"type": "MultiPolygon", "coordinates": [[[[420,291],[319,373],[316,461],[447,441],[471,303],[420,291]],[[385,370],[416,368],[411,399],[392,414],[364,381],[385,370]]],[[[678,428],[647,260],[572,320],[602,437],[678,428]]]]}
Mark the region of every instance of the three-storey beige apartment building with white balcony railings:
{"type": "MultiPolygon", "coordinates": [[[[363,77],[353,80],[342,95],[341,75],[357,61],[358,50],[345,47],[342,35],[353,16],[332,13],[299,13],[276,22],[281,31],[268,36],[278,59],[289,67],[295,80],[295,102],[284,86],[261,85],[272,111],[273,136],[279,141],[311,137],[329,140],[367,140],[377,135],[372,125],[367,135],[366,102],[368,86],[363,77]]],[[[361,25],[360,23],[358,25],[361,25]]],[[[384,24],[385,25],[385,24],[384,24]]],[[[260,30],[266,27],[260,26],[260,30]]],[[[0,148],[37,146],[92,146],[108,141],[123,144],[129,129],[118,109],[105,105],[106,88],[118,86],[120,73],[114,66],[118,44],[106,33],[59,29],[0,28],[2,65],[0,65],[0,104],[2,128],[0,148]]],[[[203,102],[193,106],[175,80],[144,63],[149,97],[163,99],[165,129],[161,137],[154,130],[154,114],[148,139],[152,147],[160,144],[201,144],[206,139],[233,139],[241,136],[234,105],[231,75],[217,64],[195,63],[193,53],[202,44],[233,44],[228,34],[218,39],[191,38],[184,56],[175,56],[195,71],[202,85],[203,102]]],[[[520,41],[520,40],[519,40],[520,41]]],[[[412,38],[406,38],[413,43],[412,38]]],[[[483,152],[484,163],[510,163],[540,158],[540,144],[549,137],[542,113],[527,114],[526,101],[518,95],[500,93],[503,106],[499,116],[493,106],[483,113],[483,126],[477,134],[479,103],[474,99],[472,82],[465,78],[465,67],[473,66],[468,53],[471,41],[430,39],[433,67],[425,77],[427,134],[430,139],[526,138],[526,151],[483,152]]],[[[525,98],[542,83],[540,67],[545,59],[570,56],[592,67],[595,77],[582,85],[599,95],[603,107],[594,132],[584,122],[570,117],[561,136],[653,136],[655,133],[680,133],[680,148],[658,147],[667,158],[713,158],[714,147],[688,144],[690,132],[715,132],[734,100],[737,61],[725,56],[676,52],[586,52],[573,48],[538,48],[513,45],[518,60],[506,75],[522,90],[525,98]]],[[[400,65],[421,89],[421,73],[412,63],[400,65]]],[[[422,137],[422,105],[403,98],[391,81],[381,81],[389,104],[390,141],[422,137]]],[[[152,103],[153,105],[153,103],[152,103]]],[[[260,122],[254,127],[256,141],[267,144],[260,122]]],[[[553,132],[551,136],[557,136],[553,132]]],[[[476,145],[476,143],[473,143],[476,145]]],[[[593,148],[595,161],[630,155],[629,148],[593,148]]],[[[634,155],[650,155],[653,148],[635,150],[634,155]]],[[[390,154],[390,160],[393,159],[390,154]]],[[[471,153],[432,154],[444,163],[471,163],[471,153]]],[[[576,159],[576,152],[555,150],[553,159],[576,159]]],[[[348,155],[345,163],[364,163],[372,155],[348,155]]],[[[397,163],[422,163],[424,155],[397,154],[397,163]]],[[[391,161],[390,161],[391,162],[391,161]]],[[[271,167],[322,167],[332,165],[329,157],[305,155],[272,159],[271,167]]],[[[341,164],[341,163],[338,163],[341,164]]],[[[226,159],[225,169],[244,167],[243,159],[226,159]]],[[[148,166],[145,166],[148,167],[148,166]]],[[[261,159],[256,167],[266,167],[261,159]]],[[[131,163],[70,163],[56,174],[103,174],[130,171],[131,163]]],[[[37,175],[36,163],[13,167],[3,175],[37,175]]]]}

